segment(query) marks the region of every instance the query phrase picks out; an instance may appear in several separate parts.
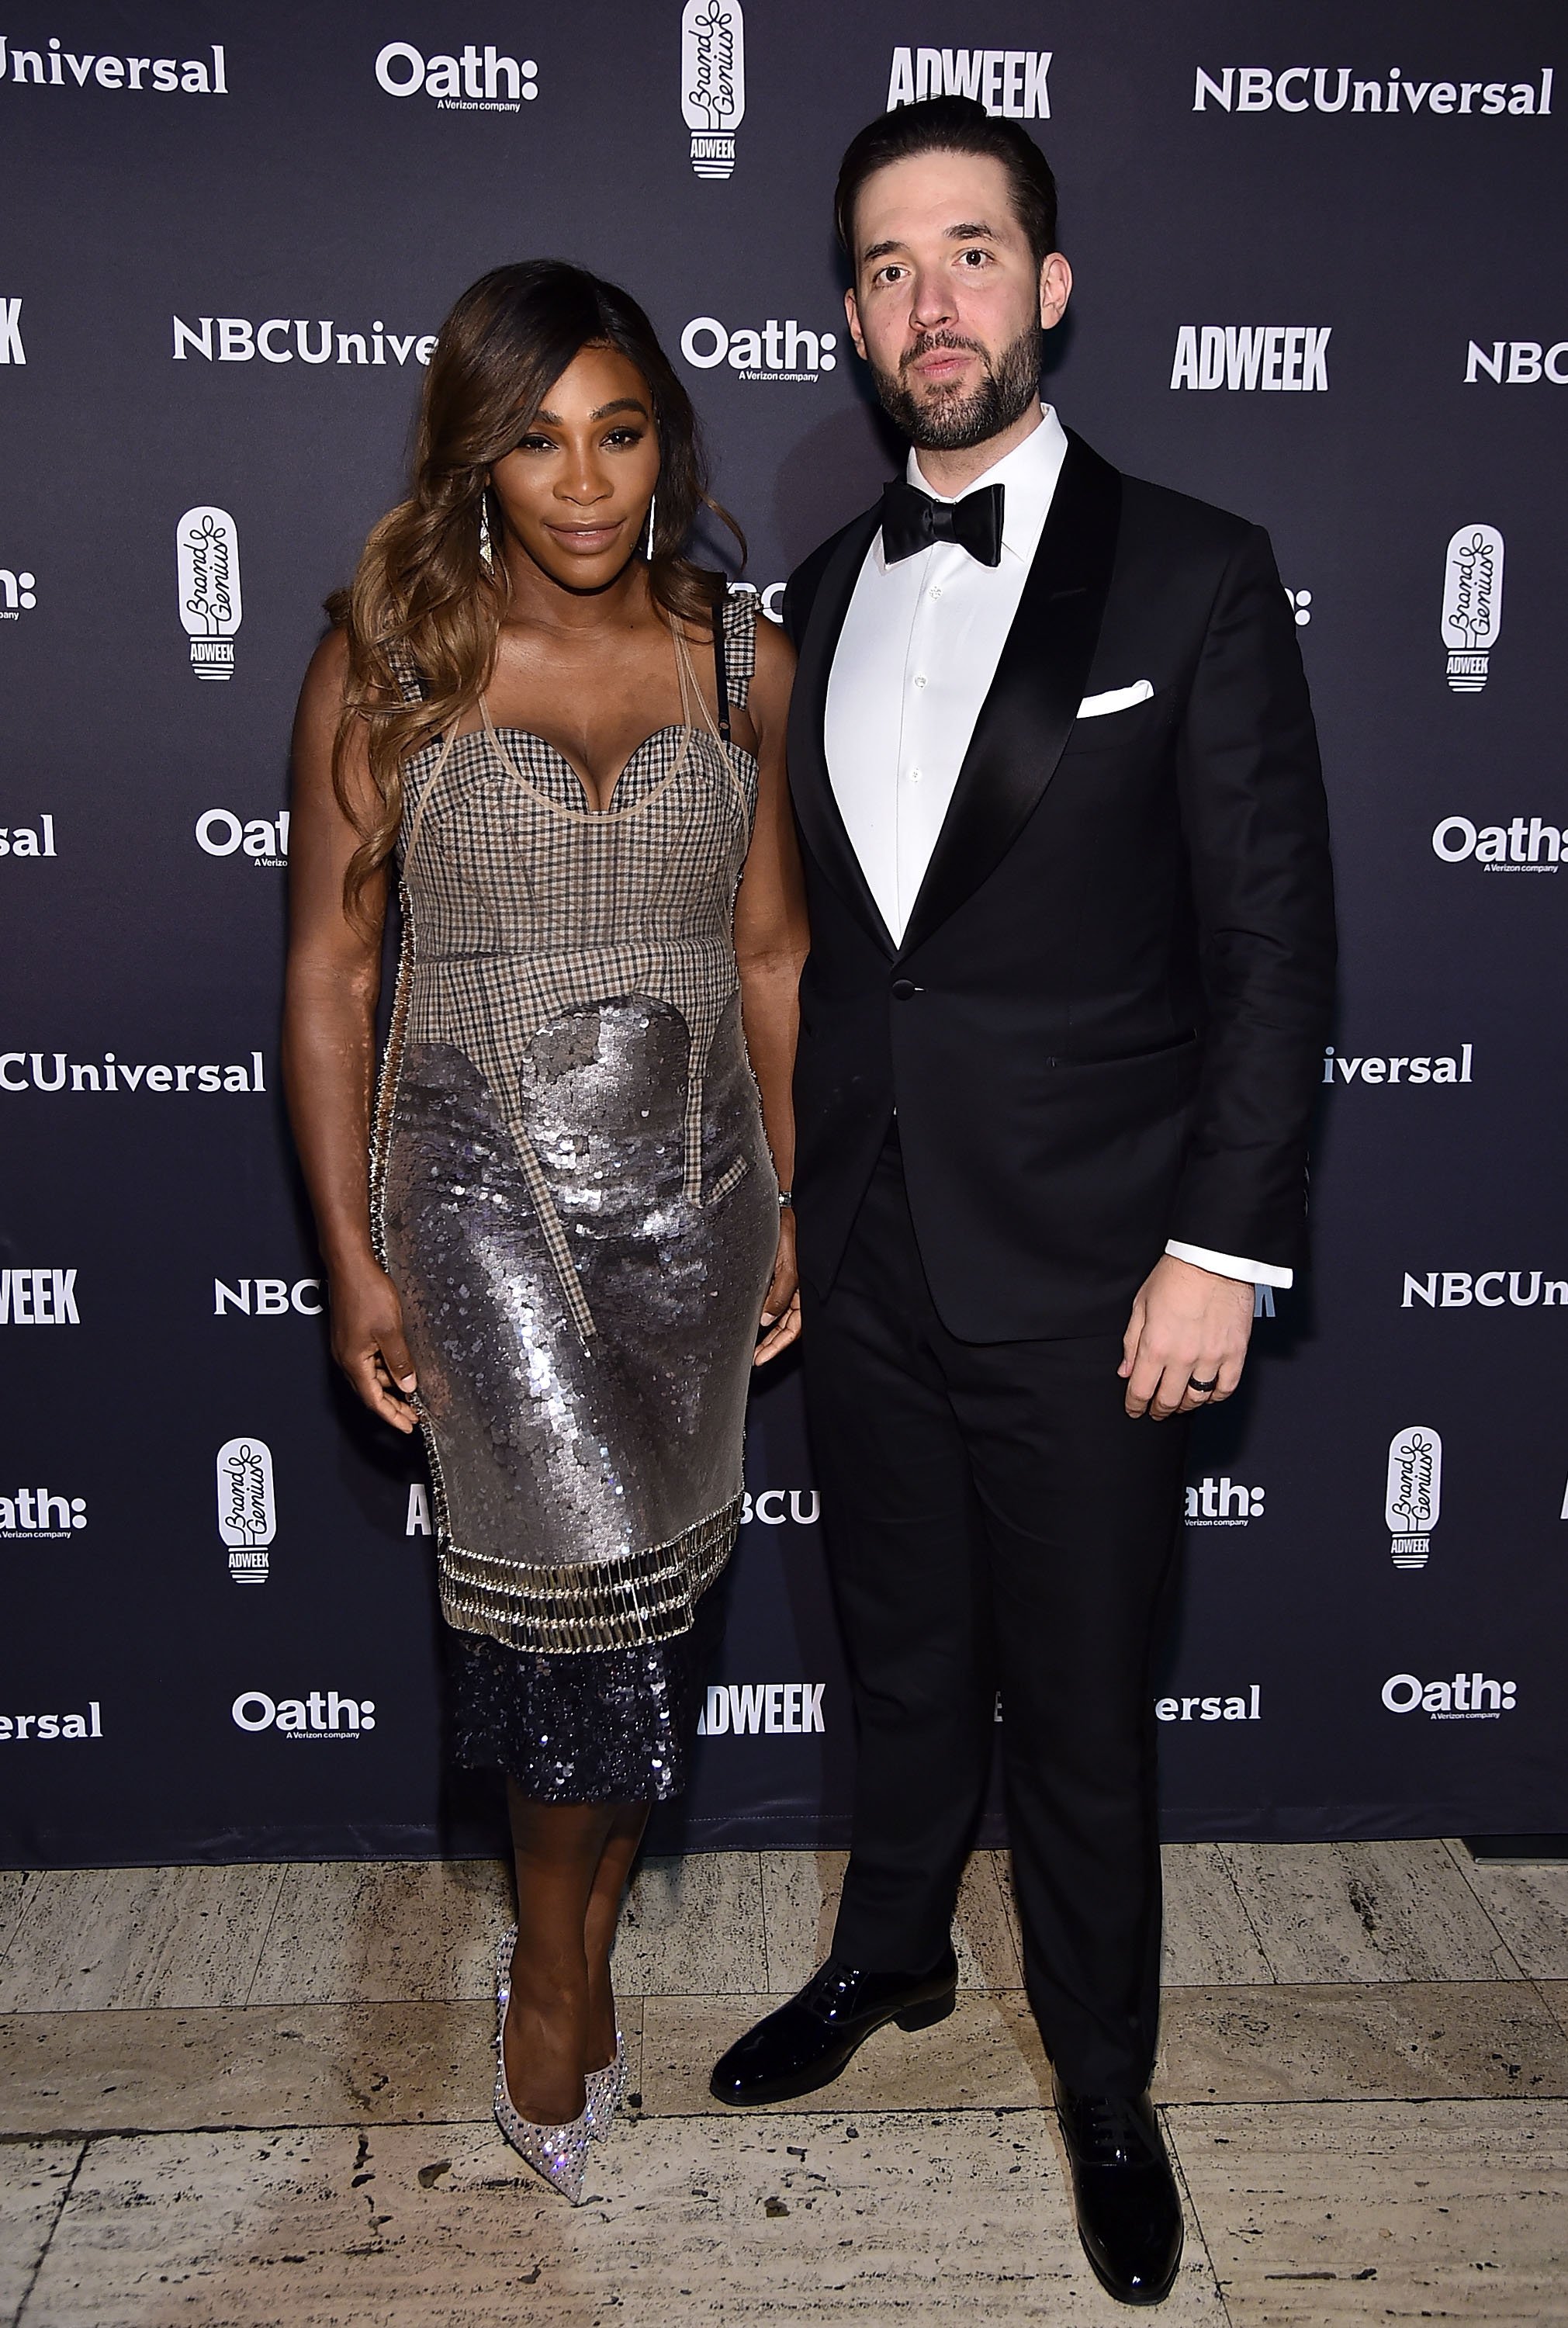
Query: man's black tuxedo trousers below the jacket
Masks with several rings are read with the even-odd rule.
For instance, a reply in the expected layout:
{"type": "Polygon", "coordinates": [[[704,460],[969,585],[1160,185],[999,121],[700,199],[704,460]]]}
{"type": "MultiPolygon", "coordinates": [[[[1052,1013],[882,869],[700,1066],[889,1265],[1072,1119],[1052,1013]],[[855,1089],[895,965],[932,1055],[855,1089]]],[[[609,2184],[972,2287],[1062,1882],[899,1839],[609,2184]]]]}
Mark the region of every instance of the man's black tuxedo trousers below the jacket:
{"type": "Polygon", "coordinates": [[[1119,1336],[965,1343],[921,1266],[896,1138],[805,1397],[858,1725],[833,1953],[924,1972],[1000,1746],[1024,1979],[1079,2093],[1142,2093],[1159,2028],[1152,1660],[1186,1422],[1133,1422],[1119,1336]]]}

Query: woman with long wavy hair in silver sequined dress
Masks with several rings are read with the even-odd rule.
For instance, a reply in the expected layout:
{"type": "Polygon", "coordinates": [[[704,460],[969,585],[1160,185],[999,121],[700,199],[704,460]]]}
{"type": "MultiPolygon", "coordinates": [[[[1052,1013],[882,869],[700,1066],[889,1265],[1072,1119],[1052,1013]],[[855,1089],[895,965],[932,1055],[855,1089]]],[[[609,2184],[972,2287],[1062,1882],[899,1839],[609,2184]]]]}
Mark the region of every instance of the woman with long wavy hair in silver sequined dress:
{"type": "Polygon", "coordinates": [[[703,503],[642,310],[498,268],[442,328],[414,491],[295,724],[284,1066],[333,1350],[426,1434],[458,1753],[509,1779],[496,2116],[572,2200],[621,2095],[610,1944],[684,1783],[749,1371],[800,1329],[791,654],[684,554],[703,503]]]}

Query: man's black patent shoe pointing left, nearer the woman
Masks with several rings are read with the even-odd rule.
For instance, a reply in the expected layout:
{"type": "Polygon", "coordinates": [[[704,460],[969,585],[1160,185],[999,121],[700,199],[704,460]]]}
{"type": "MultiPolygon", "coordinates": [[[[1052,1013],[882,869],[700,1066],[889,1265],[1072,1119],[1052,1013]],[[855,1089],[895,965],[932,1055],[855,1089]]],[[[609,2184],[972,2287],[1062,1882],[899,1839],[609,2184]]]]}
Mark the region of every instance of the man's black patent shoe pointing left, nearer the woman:
{"type": "Polygon", "coordinates": [[[707,2081],[719,2102],[791,2102],[831,2086],[872,2030],[928,2030],[947,2021],[958,1988],[952,1949],[931,1972],[856,1972],[835,1956],[812,1974],[800,1995],[779,2004],[728,2049],[707,2081]]]}

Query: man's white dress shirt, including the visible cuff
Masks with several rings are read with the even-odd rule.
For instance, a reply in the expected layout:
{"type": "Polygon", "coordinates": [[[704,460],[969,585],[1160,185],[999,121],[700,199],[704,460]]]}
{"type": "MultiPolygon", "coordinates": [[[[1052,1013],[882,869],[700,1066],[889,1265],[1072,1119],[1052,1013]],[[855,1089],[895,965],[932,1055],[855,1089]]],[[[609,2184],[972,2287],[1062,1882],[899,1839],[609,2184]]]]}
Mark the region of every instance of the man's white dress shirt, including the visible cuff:
{"type": "MultiPolygon", "coordinates": [[[[882,533],[865,552],[828,675],[826,750],[849,843],[893,941],[938,845],[1065,454],[1065,428],[1042,405],[1040,426],[963,489],[1003,487],[998,566],[982,566],[958,542],[933,542],[889,566],[882,533]]],[[[935,501],[963,498],[935,494],[914,452],[907,477],[935,501]]],[[[1224,1278],[1291,1283],[1289,1269],[1233,1252],[1182,1243],[1166,1252],[1224,1278]]]]}

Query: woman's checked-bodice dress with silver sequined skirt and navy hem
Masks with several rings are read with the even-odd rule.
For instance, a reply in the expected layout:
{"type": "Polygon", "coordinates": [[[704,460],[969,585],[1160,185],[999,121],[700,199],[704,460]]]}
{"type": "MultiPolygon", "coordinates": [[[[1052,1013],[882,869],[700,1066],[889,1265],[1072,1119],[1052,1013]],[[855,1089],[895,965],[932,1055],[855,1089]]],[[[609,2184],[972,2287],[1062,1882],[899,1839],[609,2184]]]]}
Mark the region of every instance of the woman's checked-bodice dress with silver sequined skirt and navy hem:
{"type": "Polygon", "coordinates": [[[777,1180],[733,913],[756,761],[728,740],[756,601],[714,626],[721,724],[649,733],[610,805],[484,724],[407,766],[402,959],[372,1159],[430,1460],[458,1755],[535,1800],[684,1779],[693,1618],[740,1520],[777,1180]]]}

